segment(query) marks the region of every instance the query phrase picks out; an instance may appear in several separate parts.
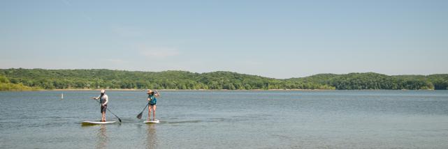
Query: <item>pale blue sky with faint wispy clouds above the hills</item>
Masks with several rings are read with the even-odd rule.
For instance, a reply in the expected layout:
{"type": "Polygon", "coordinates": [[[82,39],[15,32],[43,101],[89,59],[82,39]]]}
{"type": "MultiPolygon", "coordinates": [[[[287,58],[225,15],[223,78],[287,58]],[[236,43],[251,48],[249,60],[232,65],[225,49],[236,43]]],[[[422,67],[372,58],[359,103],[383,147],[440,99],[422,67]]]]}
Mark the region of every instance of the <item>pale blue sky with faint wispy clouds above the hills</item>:
{"type": "Polygon", "coordinates": [[[448,73],[448,1],[0,1],[0,68],[448,73]]]}

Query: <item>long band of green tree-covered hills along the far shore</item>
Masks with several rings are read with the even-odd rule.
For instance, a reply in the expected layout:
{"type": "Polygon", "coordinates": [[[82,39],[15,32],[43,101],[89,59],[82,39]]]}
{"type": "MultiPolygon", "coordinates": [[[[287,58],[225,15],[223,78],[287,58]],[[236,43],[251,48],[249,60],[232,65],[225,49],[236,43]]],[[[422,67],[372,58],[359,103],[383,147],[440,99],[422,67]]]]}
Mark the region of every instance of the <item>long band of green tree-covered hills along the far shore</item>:
{"type": "Polygon", "coordinates": [[[447,87],[448,74],[388,76],[368,72],[273,79],[236,72],[0,69],[0,91],[20,88],[446,90],[447,87]]]}

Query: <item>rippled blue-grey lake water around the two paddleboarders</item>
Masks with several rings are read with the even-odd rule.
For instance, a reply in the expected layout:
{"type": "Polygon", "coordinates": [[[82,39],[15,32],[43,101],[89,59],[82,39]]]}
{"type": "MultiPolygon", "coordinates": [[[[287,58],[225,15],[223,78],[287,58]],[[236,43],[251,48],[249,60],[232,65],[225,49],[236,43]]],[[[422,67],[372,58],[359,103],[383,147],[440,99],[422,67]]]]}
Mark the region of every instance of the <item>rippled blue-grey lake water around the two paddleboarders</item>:
{"type": "Polygon", "coordinates": [[[448,148],[448,91],[161,91],[156,125],[106,94],[121,124],[81,125],[99,91],[0,92],[0,148],[448,148]]]}

